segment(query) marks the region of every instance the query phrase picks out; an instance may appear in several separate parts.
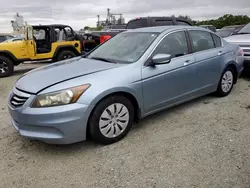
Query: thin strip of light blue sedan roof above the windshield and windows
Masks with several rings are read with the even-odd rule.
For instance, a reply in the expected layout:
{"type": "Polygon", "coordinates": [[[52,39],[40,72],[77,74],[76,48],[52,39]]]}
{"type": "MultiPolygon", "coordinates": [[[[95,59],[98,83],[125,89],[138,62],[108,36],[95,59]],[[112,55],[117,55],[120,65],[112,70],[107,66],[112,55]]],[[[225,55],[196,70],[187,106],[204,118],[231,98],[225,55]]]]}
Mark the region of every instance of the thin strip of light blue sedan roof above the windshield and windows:
{"type": "Polygon", "coordinates": [[[144,27],[138,29],[127,30],[126,32],[153,32],[153,33],[162,33],[164,31],[174,31],[178,29],[197,29],[202,31],[208,31],[205,28],[197,26],[182,26],[182,25],[171,25],[171,26],[156,26],[156,27],[144,27]]]}

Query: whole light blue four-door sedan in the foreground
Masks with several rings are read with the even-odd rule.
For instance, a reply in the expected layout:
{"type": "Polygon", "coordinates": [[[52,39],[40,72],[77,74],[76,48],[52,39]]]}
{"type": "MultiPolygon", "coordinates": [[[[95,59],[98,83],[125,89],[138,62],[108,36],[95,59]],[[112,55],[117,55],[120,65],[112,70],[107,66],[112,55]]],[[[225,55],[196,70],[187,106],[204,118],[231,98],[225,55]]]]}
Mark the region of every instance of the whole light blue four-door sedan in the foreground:
{"type": "Polygon", "coordinates": [[[84,57],[23,75],[9,96],[11,121],[47,143],[90,136],[111,144],[150,114],[213,92],[227,96],[242,62],[238,45],[200,27],[126,31],[84,57]]]}

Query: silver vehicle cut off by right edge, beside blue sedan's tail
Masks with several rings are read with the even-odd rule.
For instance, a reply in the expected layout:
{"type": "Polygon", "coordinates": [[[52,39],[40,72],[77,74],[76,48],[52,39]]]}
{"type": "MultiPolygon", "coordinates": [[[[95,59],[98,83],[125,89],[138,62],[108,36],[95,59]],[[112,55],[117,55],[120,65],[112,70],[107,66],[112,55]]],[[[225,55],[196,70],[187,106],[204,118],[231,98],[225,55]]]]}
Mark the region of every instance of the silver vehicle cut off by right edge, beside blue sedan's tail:
{"type": "Polygon", "coordinates": [[[250,23],[245,25],[236,35],[224,38],[227,42],[237,44],[243,49],[245,66],[250,65],[250,23]]]}

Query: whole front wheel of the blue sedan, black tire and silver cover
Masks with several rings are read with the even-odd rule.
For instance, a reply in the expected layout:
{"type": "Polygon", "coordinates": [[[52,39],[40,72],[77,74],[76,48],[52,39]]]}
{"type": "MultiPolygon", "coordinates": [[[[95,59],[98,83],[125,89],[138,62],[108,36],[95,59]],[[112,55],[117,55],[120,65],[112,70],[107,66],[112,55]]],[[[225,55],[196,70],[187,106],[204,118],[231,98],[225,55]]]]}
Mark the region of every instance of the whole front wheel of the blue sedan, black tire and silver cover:
{"type": "Polygon", "coordinates": [[[130,100],[115,95],[102,100],[94,108],[89,119],[89,133],[98,143],[112,144],[126,136],[133,121],[134,107],[130,100]]]}

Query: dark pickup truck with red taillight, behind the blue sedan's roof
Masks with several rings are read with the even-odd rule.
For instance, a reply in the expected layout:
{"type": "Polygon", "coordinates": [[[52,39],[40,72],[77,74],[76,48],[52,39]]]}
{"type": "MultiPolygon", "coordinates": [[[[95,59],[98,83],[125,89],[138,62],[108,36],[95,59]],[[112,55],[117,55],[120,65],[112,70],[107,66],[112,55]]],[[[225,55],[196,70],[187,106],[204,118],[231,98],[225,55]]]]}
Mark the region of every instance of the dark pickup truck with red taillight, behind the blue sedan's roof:
{"type": "Polygon", "coordinates": [[[183,18],[175,17],[138,17],[136,19],[130,20],[125,29],[112,29],[108,31],[93,31],[87,34],[87,39],[84,43],[84,51],[90,52],[99,44],[104,43],[106,40],[114,37],[115,35],[130,30],[138,29],[143,27],[153,27],[153,26],[168,26],[168,25],[189,25],[192,23],[183,18]]]}

